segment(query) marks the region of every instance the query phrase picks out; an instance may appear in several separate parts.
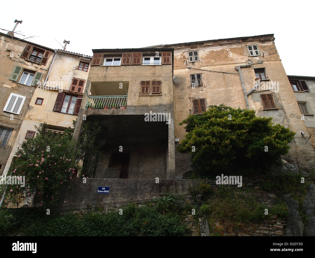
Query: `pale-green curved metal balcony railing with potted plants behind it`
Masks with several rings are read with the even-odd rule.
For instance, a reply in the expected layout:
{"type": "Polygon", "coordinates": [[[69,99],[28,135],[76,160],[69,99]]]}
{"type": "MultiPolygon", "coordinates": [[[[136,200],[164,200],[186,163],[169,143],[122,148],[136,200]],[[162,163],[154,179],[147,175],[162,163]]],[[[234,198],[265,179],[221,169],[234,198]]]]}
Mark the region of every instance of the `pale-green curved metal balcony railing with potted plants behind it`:
{"type": "Polygon", "coordinates": [[[85,109],[126,109],[127,97],[125,96],[89,96],[85,109]]]}

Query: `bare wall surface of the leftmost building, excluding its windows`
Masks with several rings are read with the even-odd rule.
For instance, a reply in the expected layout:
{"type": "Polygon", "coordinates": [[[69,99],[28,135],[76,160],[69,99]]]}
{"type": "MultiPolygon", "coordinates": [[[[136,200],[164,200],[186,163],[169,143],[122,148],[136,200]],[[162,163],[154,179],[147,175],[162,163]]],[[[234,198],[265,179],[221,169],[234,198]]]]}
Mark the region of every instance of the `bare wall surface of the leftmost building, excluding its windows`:
{"type": "MultiPolygon", "coordinates": [[[[41,72],[43,73],[42,79],[46,79],[49,66],[54,57],[54,53],[52,49],[48,49],[46,47],[38,46],[36,44],[30,43],[33,46],[37,46],[41,49],[52,51],[46,65],[33,63],[30,61],[21,58],[21,54],[26,46],[27,41],[11,39],[3,34],[0,34],[0,63],[1,63],[1,71],[0,71],[0,126],[3,128],[12,129],[13,132],[11,134],[9,143],[6,148],[0,147],[0,164],[2,164],[2,168],[0,174],[4,172],[7,173],[7,169],[11,164],[12,155],[12,147],[15,144],[16,138],[19,134],[20,126],[25,119],[25,114],[28,109],[28,104],[33,96],[35,87],[34,86],[26,86],[20,84],[18,82],[9,80],[14,67],[21,66],[23,69],[29,69],[33,72],[41,72]],[[21,108],[20,114],[16,115],[9,112],[4,112],[4,106],[9,99],[11,93],[15,93],[18,95],[25,96],[26,99],[21,108]],[[12,117],[13,119],[12,119],[12,117]],[[7,164],[8,163],[8,164],[7,164]]],[[[22,73],[21,73],[22,74],[22,73]]],[[[18,81],[20,78],[18,79],[18,81]]],[[[26,130],[27,131],[27,130],[26,130]]],[[[24,136],[25,137],[25,136],[24,136]]],[[[15,151],[14,151],[15,152],[15,151]]]]}

